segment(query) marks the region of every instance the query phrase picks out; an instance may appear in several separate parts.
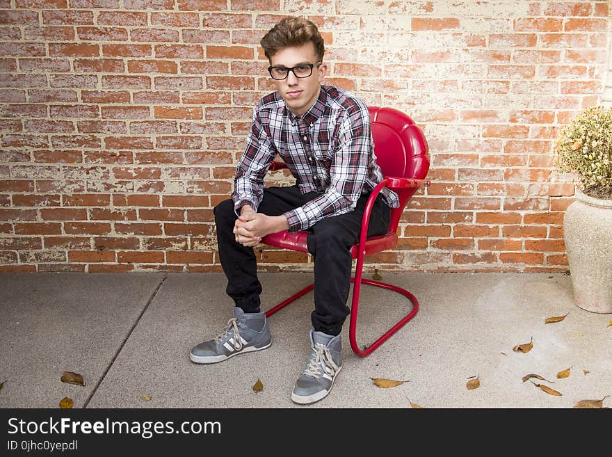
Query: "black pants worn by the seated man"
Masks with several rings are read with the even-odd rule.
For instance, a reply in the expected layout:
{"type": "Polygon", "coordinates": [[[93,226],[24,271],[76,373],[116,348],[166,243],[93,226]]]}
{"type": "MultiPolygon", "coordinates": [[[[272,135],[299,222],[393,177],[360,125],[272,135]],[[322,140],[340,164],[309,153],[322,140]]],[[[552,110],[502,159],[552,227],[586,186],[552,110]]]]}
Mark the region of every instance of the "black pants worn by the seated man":
{"type": "MultiPolygon", "coordinates": [[[[264,189],[257,211],[280,216],[315,198],[317,193],[301,194],[297,186],[264,189]]],[[[314,257],[314,330],[339,335],[346,316],[351,287],[351,247],[359,241],[361,221],[369,195],[362,195],[357,207],[349,213],[325,218],[309,228],[308,252],[314,257]]],[[[227,277],[227,295],[244,312],[259,311],[261,284],[257,279],[257,259],[252,247],[242,246],[234,237],[234,202],[220,202],[214,209],[217,246],[223,272],[227,277]]],[[[387,233],[391,210],[378,195],[373,205],[368,236],[387,233]]]]}

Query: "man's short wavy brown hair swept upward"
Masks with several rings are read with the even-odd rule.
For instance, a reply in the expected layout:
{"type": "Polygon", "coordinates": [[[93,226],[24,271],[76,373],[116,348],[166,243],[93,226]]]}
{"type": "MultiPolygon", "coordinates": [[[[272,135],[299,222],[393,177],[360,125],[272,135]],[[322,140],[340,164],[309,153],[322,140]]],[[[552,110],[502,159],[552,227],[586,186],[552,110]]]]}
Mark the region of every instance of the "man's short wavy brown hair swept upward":
{"type": "Polygon", "coordinates": [[[316,58],[323,61],[325,45],[319,28],[303,17],[285,17],[273,26],[259,42],[264,48],[268,61],[272,56],[285,47],[299,47],[312,41],[316,58]]]}

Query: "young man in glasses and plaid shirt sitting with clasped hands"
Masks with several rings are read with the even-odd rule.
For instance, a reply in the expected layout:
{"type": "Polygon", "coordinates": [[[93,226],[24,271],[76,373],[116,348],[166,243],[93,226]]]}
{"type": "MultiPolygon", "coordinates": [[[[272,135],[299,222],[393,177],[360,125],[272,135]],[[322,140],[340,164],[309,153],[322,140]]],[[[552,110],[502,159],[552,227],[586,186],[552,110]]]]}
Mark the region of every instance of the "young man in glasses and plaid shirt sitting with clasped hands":
{"type": "MultiPolygon", "coordinates": [[[[191,350],[196,363],[215,363],[271,345],[260,310],[261,284],[252,247],[267,234],[307,230],[314,257],[311,350],[291,400],[314,403],[327,396],[342,367],[341,329],[350,310],[350,249],[360,235],[369,194],[383,179],[374,155],[367,106],[332,86],[325,47],[307,19],[282,19],[261,40],[276,91],[255,107],[247,146],[234,177],[232,198],[214,209],[218,252],[227,276],[234,317],[218,337],[191,350]],[[276,155],[294,186],[264,188],[276,155]]],[[[385,234],[398,198],[388,189],[373,206],[368,236],[385,234]]]]}

